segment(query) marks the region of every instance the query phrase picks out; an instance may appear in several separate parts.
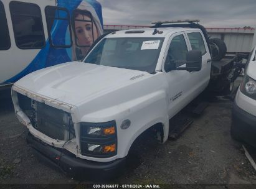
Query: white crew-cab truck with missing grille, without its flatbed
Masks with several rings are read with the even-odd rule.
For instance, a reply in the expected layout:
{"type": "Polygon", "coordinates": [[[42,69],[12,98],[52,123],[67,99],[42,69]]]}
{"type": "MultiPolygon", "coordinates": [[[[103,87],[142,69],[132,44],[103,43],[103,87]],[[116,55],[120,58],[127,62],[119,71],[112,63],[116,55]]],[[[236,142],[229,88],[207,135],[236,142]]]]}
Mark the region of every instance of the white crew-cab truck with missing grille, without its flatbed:
{"type": "Polygon", "coordinates": [[[82,62],[17,81],[12,101],[29,130],[27,142],[40,157],[85,177],[120,170],[135,139],[149,128],[166,142],[169,119],[211,78],[206,30],[186,22],[112,32],[100,37],[82,62]]]}

